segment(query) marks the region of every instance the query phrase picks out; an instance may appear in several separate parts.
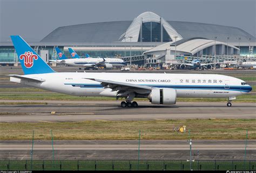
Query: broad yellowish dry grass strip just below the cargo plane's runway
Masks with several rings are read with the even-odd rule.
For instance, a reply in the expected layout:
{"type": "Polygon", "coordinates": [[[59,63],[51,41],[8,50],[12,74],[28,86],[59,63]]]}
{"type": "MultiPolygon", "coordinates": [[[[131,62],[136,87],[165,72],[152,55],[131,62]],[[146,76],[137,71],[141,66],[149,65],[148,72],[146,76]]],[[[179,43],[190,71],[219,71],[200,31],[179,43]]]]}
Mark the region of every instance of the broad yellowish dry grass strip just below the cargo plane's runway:
{"type": "Polygon", "coordinates": [[[139,129],[144,140],[188,139],[188,133],[173,132],[185,125],[192,139],[256,139],[256,119],[194,119],[151,121],[82,121],[0,123],[0,140],[137,140],[139,129]]]}

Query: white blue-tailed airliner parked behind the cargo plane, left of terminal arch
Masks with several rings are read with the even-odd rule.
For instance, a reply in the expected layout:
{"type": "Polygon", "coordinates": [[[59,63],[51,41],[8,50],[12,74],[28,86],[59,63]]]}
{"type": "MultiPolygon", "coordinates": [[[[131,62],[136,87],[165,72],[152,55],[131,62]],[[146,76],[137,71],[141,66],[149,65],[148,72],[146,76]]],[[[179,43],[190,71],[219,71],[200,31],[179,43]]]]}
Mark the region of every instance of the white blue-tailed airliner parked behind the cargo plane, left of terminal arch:
{"type": "MultiPolygon", "coordinates": [[[[59,49],[57,50],[57,54],[59,53],[64,55],[59,49]]],[[[75,51],[74,51],[75,52],[75,51]]],[[[72,54],[71,54],[72,55],[72,54]]],[[[89,56],[89,55],[88,55],[89,56]]],[[[77,67],[85,67],[85,68],[98,68],[104,67],[106,69],[111,69],[112,67],[122,67],[125,66],[124,60],[118,58],[79,58],[79,56],[75,53],[74,59],[60,59],[60,60],[50,60],[56,61],[57,63],[62,63],[69,66],[77,66],[77,67]]]]}

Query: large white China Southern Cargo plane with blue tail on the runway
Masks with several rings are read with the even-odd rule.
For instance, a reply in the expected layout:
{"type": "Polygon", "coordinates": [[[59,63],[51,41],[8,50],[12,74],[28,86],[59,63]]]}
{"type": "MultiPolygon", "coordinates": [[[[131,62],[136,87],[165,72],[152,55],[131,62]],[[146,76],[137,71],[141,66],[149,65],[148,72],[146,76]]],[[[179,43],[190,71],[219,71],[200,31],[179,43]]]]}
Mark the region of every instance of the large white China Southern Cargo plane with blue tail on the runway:
{"type": "Polygon", "coordinates": [[[10,74],[10,81],[70,95],[125,98],[121,107],[137,107],[134,98],[174,105],[177,97],[228,98],[231,106],[235,96],[252,91],[245,81],[219,74],[57,73],[20,36],[11,39],[24,75],[10,74]]]}

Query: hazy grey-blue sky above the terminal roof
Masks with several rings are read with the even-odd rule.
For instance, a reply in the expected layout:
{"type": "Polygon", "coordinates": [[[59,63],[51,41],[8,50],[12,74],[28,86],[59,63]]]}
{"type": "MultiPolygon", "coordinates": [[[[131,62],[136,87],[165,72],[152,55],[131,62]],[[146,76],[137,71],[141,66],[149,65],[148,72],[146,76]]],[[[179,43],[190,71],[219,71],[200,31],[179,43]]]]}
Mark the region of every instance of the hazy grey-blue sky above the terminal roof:
{"type": "Polygon", "coordinates": [[[256,37],[256,0],[0,0],[0,41],[40,41],[59,26],[133,20],[152,11],[165,20],[239,27],[256,37]]]}

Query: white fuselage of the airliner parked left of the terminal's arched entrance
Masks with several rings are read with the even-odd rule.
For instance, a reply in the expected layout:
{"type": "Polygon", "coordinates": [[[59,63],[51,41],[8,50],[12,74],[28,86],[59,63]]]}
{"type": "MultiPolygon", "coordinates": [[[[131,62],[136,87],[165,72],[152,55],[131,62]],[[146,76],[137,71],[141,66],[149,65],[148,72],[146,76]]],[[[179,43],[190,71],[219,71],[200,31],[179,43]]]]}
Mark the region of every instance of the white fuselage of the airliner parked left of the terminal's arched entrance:
{"type": "MultiPolygon", "coordinates": [[[[113,67],[122,67],[125,65],[124,60],[118,58],[104,58],[105,64],[111,64],[113,67]]],[[[77,67],[92,67],[104,61],[103,58],[74,58],[58,60],[62,64],[77,67]]]]}

